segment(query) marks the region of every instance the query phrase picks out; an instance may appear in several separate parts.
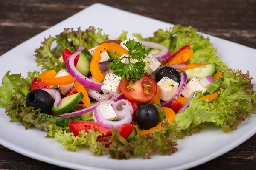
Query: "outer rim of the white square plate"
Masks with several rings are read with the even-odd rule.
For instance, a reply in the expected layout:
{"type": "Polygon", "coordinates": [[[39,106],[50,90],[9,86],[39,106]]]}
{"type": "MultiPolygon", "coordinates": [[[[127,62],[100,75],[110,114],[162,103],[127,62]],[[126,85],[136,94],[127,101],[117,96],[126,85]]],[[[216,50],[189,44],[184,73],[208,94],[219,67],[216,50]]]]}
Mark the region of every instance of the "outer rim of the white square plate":
{"type": "MultiPolygon", "coordinates": [[[[37,36],[39,36],[40,34],[43,34],[45,31],[48,31],[49,29],[53,28],[53,27],[56,27],[58,26],[58,24],[62,23],[62,22],[65,22],[67,19],[71,18],[71,17],[74,17],[76,15],[79,15],[81,12],[83,12],[84,10],[87,10],[88,8],[91,8],[93,6],[104,6],[104,7],[110,7],[110,8],[113,8],[113,9],[117,9],[119,11],[122,11],[122,12],[127,12],[129,14],[134,14],[134,13],[131,13],[129,11],[124,11],[122,9],[119,9],[119,8],[114,8],[112,6],[107,6],[105,4],[102,4],[102,3],[94,3],[90,6],[88,6],[87,8],[77,12],[76,14],[73,14],[72,16],[62,20],[61,22],[47,28],[46,30],[40,32],[39,34],[36,34],[35,36],[29,38],[28,40],[22,42],[21,44],[15,46],[14,48],[10,49],[9,51],[7,51],[6,53],[2,54],[0,56],[0,58],[3,56],[3,55],[6,55],[7,53],[9,53],[10,51],[12,50],[15,50],[15,48],[17,48],[18,46],[20,45],[23,45],[23,43],[26,43],[27,41],[31,40],[32,38],[35,38],[37,36]]],[[[141,16],[141,17],[145,17],[145,16],[142,16],[142,15],[139,15],[139,14],[134,14],[134,15],[138,15],[138,16],[141,16]]],[[[145,17],[145,18],[149,18],[151,20],[156,20],[154,18],[150,18],[150,17],[145,17]]],[[[160,21],[160,20],[156,20],[156,21],[160,21]]],[[[163,23],[167,23],[167,22],[164,22],[164,21],[160,21],[160,22],[163,22],[163,23]]],[[[171,24],[171,23],[168,23],[168,24],[171,24]]],[[[172,24],[173,25],[173,24],[172,24]]],[[[204,36],[207,36],[207,37],[215,37],[215,36],[212,36],[212,35],[209,35],[209,34],[204,34],[204,33],[201,33],[199,32],[200,34],[203,34],[204,36]]],[[[224,41],[227,41],[227,42],[232,42],[232,41],[229,41],[229,40],[225,40],[225,39],[222,39],[222,38],[219,38],[219,37],[215,37],[217,38],[218,40],[224,40],[224,41]]],[[[234,44],[237,44],[237,45],[241,45],[239,43],[236,43],[236,42],[232,42],[234,44]]],[[[245,45],[242,45],[243,47],[246,47],[246,48],[251,48],[251,47],[247,47],[245,45]]],[[[251,48],[251,49],[254,49],[254,48],[251,48]]],[[[255,49],[254,49],[255,50],[255,49]]],[[[227,153],[229,152],[230,150],[236,148],[237,146],[239,146],[240,144],[244,143],[245,141],[247,141],[248,139],[250,139],[250,137],[252,137],[254,134],[256,134],[256,126],[254,128],[252,128],[249,132],[247,132],[243,138],[239,138],[238,140],[236,140],[235,142],[232,143],[232,145],[228,145],[227,147],[222,147],[221,149],[219,150],[216,150],[214,153],[208,155],[208,156],[205,156],[201,159],[197,159],[196,161],[192,161],[188,164],[184,164],[184,165],[180,165],[180,166],[177,166],[177,167],[173,167],[173,168],[168,168],[168,167],[163,167],[164,170],[180,170],[180,169],[188,169],[188,168],[192,168],[192,167],[196,167],[198,165],[201,165],[201,164],[204,164],[208,161],[211,161],[212,159],[215,159],[217,158],[218,156],[221,156],[223,155],[224,153],[227,153]]],[[[32,158],[32,159],[36,159],[38,161],[43,161],[43,162],[46,162],[48,164],[53,164],[53,165],[57,165],[57,166],[60,166],[60,167],[65,167],[65,168],[71,168],[71,169],[90,169],[90,170],[110,170],[110,169],[105,169],[105,168],[97,168],[97,167],[91,167],[91,166],[87,166],[87,165],[80,165],[80,164],[75,164],[75,163],[72,163],[72,162],[65,162],[65,161],[62,161],[62,160],[58,160],[58,159],[55,159],[55,158],[50,158],[48,156],[44,156],[42,154],[39,154],[39,153],[36,153],[36,152],[33,152],[33,151],[30,151],[30,150],[27,150],[27,149],[24,149],[23,147],[20,147],[19,145],[15,145],[15,144],[9,144],[6,140],[4,140],[3,138],[0,138],[0,144],[3,145],[4,147],[10,149],[10,150],[13,150],[17,153],[20,153],[24,156],[28,156],[29,158],[32,158]]]]}

